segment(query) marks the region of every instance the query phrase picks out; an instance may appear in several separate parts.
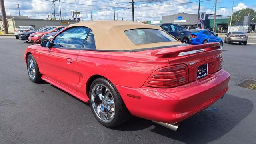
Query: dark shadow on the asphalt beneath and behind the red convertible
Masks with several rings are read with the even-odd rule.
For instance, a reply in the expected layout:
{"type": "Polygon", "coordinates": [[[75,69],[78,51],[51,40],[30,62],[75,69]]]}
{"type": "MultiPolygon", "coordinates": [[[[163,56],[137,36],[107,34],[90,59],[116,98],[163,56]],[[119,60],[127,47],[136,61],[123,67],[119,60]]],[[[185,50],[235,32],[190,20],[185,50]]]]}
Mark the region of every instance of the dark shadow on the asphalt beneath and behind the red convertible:
{"type": "Polygon", "coordinates": [[[226,94],[223,99],[218,100],[210,107],[214,111],[208,108],[188,118],[181,123],[178,132],[141,118],[132,118],[129,122],[115,128],[115,130],[136,131],[154,125],[154,128],[150,131],[156,134],[187,144],[208,143],[217,140],[235,128],[250,114],[254,105],[248,99],[226,94]]]}

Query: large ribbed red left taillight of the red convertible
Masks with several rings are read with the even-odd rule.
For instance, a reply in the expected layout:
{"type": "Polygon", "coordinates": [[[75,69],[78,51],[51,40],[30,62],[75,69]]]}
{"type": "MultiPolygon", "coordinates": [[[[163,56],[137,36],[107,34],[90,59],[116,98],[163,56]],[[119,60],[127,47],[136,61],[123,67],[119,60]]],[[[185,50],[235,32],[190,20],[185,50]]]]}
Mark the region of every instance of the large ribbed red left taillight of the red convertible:
{"type": "Polygon", "coordinates": [[[153,72],[144,86],[170,88],[188,83],[188,67],[184,64],[160,68],[153,72]]]}

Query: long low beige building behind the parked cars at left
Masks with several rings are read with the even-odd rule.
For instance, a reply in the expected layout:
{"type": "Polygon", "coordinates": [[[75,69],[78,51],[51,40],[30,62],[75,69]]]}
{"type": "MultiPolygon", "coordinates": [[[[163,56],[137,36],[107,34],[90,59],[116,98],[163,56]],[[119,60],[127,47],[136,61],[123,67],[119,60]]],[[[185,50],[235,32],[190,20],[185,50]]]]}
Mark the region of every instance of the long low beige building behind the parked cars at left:
{"type": "MultiPolygon", "coordinates": [[[[6,16],[8,31],[14,33],[14,30],[19,26],[33,26],[35,29],[44,26],[60,26],[60,20],[44,20],[44,19],[29,19],[27,16],[6,16]]],[[[75,20],[62,20],[62,26],[68,26],[76,23],[75,20]]],[[[0,27],[2,28],[2,20],[0,19],[0,27]]]]}

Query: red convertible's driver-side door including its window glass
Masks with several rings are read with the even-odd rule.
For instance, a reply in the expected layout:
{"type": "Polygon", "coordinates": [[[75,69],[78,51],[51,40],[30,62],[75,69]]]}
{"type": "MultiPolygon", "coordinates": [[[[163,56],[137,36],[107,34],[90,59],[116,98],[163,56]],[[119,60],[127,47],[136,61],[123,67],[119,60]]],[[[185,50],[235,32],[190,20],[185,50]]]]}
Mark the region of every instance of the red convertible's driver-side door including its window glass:
{"type": "Polygon", "coordinates": [[[68,28],[52,40],[50,48],[41,48],[42,74],[76,90],[78,83],[76,58],[89,31],[90,29],[86,27],[68,28]]]}

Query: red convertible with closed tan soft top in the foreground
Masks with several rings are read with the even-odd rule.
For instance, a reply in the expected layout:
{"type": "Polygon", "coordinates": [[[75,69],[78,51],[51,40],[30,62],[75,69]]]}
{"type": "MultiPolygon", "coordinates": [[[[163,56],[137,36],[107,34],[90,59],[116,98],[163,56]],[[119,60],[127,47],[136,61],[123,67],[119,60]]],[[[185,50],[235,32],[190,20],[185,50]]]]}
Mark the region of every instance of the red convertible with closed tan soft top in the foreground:
{"type": "Polygon", "coordinates": [[[24,60],[32,82],[45,80],[90,102],[108,128],[133,115],[177,130],[228,90],[219,45],[183,44],[140,22],[80,22],[28,46],[24,60]]]}

